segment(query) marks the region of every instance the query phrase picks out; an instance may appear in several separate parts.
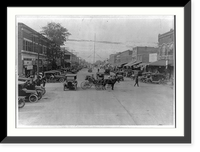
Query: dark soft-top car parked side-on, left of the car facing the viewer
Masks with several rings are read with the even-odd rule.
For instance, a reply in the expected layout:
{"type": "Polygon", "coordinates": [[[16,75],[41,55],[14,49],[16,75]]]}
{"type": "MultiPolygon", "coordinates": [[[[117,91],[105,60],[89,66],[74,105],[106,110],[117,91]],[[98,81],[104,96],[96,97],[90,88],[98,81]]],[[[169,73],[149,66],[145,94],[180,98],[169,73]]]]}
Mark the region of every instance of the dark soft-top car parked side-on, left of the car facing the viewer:
{"type": "Polygon", "coordinates": [[[58,70],[44,72],[47,82],[64,82],[65,75],[58,70]]]}

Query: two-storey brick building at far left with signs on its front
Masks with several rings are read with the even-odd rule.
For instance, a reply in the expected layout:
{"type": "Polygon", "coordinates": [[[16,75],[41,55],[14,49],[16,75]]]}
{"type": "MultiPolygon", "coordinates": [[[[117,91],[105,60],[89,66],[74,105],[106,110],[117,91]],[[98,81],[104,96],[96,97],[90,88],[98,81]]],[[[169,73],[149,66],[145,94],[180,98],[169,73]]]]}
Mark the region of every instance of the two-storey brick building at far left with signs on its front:
{"type": "Polygon", "coordinates": [[[32,75],[47,69],[47,51],[51,40],[23,23],[18,23],[18,75],[32,75]],[[38,60],[39,59],[39,60],[38,60]]]}

